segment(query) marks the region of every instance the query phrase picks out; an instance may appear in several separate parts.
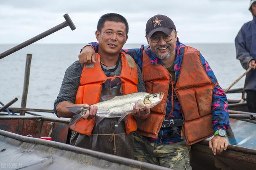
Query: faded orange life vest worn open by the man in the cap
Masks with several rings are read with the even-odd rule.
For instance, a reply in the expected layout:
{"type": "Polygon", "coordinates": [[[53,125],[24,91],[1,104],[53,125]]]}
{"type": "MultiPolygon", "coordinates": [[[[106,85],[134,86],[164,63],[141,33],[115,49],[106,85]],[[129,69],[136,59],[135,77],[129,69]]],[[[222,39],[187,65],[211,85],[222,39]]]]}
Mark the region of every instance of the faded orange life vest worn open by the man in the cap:
{"type": "MultiPolygon", "coordinates": [[[[149,93],[164,92],[160,104],[151,109],[150,116],[138,123],[138,133],[147,137],[158,137],[162,121],[166,115],[166,104],[171,74],[157,64],[150,63],[150,57],[143,52],[142,77],[149,93]]],[[[175,92],[184,116],[183,133],[188,145],[213,135],[212,93],[215,84],[206,74],[200,61],[198,50],[186,46],[180,75],[175,92]]]]}

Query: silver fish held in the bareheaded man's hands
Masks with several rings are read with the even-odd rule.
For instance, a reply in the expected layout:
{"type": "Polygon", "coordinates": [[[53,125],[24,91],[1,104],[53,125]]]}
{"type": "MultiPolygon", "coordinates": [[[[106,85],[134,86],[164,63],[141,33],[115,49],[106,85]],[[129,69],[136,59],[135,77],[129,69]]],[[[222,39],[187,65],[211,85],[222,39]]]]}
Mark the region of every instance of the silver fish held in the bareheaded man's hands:
{"type": "MultiPolygon", "coordinates": [[[[158,103],[160,103],[163,97],[164,93],[162,92],[155,94],[138,92],[126,94],[123,96],[114,96],[114,98],[110,100],[92,104],[92,106],[98,107],[96,119],[97,117],[101,117],[101,120],[103,118],[120,117],[120,119],[118,120],[118,123],[120,123],[120,121],[122,121],[122,119],[124,119],[126,115],[132,113],[134,105],[136,109],[142,109],[146,106],[152,108],[156,106],[158,103]]],[[[75,113],[70,120],[70,125],[72,125],[80,118],[82,118],[85,115],[86,111],[89,110],[89,108],[80,106],[66,108],[70,110],[72,113],[75,113]]],[[[117,126],[118,123],[115,126],[117,126]]]]}

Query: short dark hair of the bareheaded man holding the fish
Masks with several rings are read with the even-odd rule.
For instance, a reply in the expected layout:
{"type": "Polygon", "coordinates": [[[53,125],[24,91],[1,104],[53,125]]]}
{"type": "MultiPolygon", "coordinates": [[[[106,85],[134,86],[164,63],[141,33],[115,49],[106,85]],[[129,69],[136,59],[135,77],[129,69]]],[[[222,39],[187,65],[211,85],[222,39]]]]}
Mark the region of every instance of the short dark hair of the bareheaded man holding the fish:
{"type": "Polygon", "coordinates": [[[128,34],[129,26],[128,26],[127,20],[120,14],[108,13],[108,14],[104,14],[103,16],[101,16],[100,20],[98,21],[98,25],[97,25],[98,31],[101,31],[101,29],[104,26],[104,23],[106,21],[114,21],[114,22],[124,23],[124,25],[126,27],[126,35],[128,34]]]}

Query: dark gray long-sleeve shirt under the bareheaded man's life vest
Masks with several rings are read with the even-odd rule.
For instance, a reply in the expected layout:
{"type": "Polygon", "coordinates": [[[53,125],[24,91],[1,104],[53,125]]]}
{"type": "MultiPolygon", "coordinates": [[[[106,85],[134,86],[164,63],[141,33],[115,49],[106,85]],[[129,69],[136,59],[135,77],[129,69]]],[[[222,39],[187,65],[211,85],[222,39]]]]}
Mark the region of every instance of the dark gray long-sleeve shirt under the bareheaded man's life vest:
{"type": "MultiPolygon", "coordinates": [[[[80,76],[82,74],[82,69],[83,69],[83,64],[80,64],[79,61],[75,61],[73,64],[71,64],[67,68],[62,81],[62,85],[60,87],[60,92],[58,94],[57,99],[54,102],[55,114],[56,114],[56,106],[60,102],[68,101],[71,103],[75,103],[76,92],[78,90],[78,86],[80,86],[80,76]]],[[[137,70],[138,70],[138,84],[137,84],[138,92],[146,92],[145,83],[142,79],[141,69],[138,65],[137,65],[137,70]]]]}

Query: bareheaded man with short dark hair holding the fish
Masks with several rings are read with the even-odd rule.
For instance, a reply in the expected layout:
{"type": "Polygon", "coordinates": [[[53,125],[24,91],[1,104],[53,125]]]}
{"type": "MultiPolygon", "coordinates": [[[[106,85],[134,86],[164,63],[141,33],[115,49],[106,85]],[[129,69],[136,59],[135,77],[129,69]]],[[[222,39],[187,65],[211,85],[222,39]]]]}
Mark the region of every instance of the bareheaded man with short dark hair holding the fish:
{"type": "MultiPolygon", "coordinates": [[[[136,66],[132,57],[120,51],[128,38],[127,33],[128,23],[123,16],[110,13],[100,18],[96,31],[99,43],[98,63],[84,66],[76,61],[68,67],[60,93],[54,102],[54,111],[58,117],[72,119],[74,113],[66,107],[89,107],[87,103],[92,102],[90,99],[95,100],[96,94],[100,94],[98,102],[102,102],[104,96],[120,96],[137,92],[137,89],[138,92],[146,91],[140,67],[136,66]],[[97,78],[105,80],[97,82],[97,78]]],[[[70,125],[73,130],[70,144],[133,159],[132,131],[136,130],[134,118],[143,118],[150,113],[150,109],[134,107],[134,117],[129,116],[118,127],[114,126],[118,118],[105,118],[94,124],[96,113],[97,107],[90,106],[83,118],[70,125]]]]}

